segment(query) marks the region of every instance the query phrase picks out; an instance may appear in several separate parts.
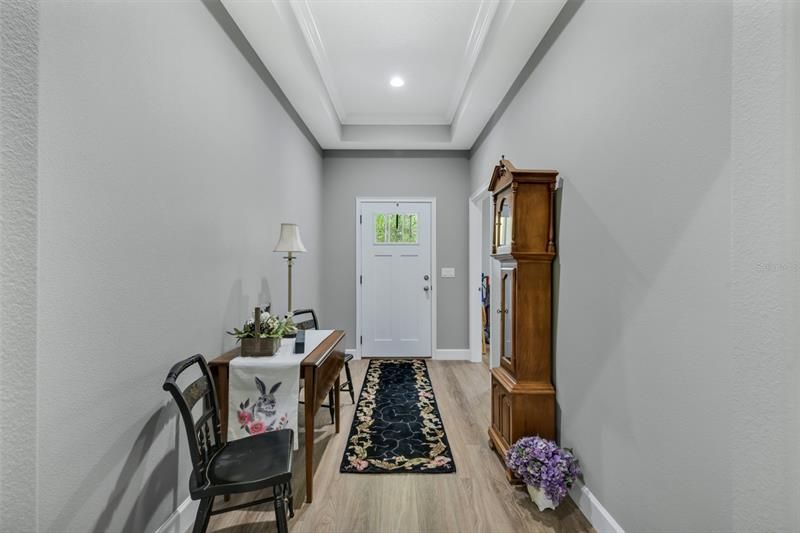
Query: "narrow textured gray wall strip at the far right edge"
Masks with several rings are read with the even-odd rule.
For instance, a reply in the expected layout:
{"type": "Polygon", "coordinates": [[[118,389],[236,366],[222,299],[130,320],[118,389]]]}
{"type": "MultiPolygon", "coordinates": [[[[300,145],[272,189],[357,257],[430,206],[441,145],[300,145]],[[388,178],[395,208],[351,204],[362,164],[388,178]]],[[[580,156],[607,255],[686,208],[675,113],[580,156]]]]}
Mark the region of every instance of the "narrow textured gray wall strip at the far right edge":
{"type": "Polygon", "coordinates": [[[727,437],[739,531],[800,531],[799,11],[733,4],[727,437]]]}

